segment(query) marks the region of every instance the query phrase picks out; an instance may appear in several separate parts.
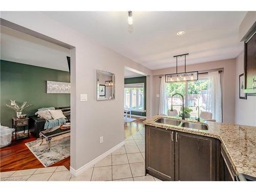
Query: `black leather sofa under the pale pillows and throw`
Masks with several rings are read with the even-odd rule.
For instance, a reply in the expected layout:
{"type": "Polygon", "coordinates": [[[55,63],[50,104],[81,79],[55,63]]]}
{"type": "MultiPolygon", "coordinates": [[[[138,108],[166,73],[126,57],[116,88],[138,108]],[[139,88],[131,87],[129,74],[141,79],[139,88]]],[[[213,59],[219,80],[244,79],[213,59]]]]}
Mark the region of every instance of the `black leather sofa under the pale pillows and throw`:
{"type": "MultiPolygon", "coordinates": [[[[61,110],[63,115],[67,117],[70,121],[70,106],[55,108],[55,110],[61,110]]],[[[29,117],[29,132],[35,136],[36,138],[39,137],[40,131],[44,130],[46,123],[46,119],[39,118],[37,115],[32,115],[29,117]]]]}

